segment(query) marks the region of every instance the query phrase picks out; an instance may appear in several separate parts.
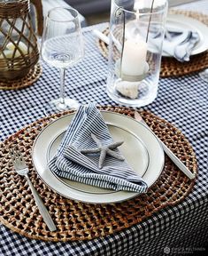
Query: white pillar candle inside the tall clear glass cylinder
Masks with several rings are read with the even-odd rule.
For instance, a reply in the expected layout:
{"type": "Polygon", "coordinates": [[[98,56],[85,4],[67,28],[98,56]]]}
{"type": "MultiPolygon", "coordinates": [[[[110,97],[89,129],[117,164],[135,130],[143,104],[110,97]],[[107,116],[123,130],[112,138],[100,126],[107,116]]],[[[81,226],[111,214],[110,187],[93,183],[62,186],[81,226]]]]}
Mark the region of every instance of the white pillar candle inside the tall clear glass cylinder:
{"type": "Polygon", "coordinates": [[[143,75],[146,56],[147,43],[139,39],[127,39],[124,43],[121,72],[127,76],[143,75]]]}

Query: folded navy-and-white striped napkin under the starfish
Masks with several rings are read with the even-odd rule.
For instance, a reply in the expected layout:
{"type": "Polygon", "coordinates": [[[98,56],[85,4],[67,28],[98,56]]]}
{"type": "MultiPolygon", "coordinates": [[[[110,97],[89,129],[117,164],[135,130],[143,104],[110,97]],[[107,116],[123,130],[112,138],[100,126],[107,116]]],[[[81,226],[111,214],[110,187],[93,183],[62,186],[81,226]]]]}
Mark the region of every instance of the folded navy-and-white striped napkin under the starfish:
{"type": "MultiPolygon", "coordinates": [[[[133,171],[126,160],[119,161],[112,156],[106,156],[103,168],[99,169],[99,153],[81,154],[81,149],[97,147],[91,138],[91,133],[95,134],[103,145],[113,142],[103,116],[93,103],[89,106],[81,106],[77,110],[58,147],[57,155],[50,160],[50,171],[55,172],[59,177],[99,188],[146,192],[147,184],[133,171]]],[[[118,149],[117,153],[119,153],[118,149]]]]}

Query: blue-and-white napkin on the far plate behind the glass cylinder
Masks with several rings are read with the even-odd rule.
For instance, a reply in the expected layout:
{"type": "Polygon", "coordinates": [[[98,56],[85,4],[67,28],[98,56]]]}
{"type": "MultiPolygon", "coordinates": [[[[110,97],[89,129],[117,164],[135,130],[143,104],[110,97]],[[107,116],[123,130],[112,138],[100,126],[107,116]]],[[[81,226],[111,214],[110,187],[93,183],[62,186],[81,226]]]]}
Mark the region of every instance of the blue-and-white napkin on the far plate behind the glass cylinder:
{"type": "Polygon", "coordinates": [[[199,42],[197,32],[166,28],[163,52],[181,62],[189,61],[191,52],[199,42]]]}

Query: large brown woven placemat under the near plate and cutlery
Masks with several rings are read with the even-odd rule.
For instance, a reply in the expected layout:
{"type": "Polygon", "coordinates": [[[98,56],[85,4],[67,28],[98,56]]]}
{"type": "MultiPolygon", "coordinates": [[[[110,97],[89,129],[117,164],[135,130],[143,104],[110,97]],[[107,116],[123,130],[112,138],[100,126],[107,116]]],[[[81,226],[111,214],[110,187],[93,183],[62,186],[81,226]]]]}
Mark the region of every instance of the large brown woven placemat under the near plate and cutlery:
{"type": "MultiPolygon", "coordinates": [[[[129,108],[100,107],[127,116],[134,116],[129,108]]],[[[166,157],[164,171],[146,194],[118,204],[86,204],[60,196],[48,188],[38,177],[32,164],[31,149],[42,128],[54,119],[72,113],[48,116],[27,125],[0,144],[0,221],[19,234],[46,241],[89,240],[110,235],[141,222],[167,205],[179,203],[193,188],[189,180],[166,157]],[[13,170],[8,148],[18,145],[29,168],[29,177],[50,211],[57,231],[50,232],[42,220],[26,179],[13,170]]],[[[189,141],[172,124],[141,112],[150,128],[173,152],[181,158],[191,172],[196,173],[196,156],[189,141]]]]}

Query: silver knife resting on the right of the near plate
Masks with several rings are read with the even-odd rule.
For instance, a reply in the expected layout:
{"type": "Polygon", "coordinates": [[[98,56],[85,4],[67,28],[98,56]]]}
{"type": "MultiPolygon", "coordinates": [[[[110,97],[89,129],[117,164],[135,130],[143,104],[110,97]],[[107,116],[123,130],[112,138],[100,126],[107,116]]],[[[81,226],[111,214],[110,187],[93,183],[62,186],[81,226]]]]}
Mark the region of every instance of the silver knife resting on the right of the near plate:
{"type": "MultiPolygon", "coordinates": [[[[136,121],[139,121],[139,122],[142,123],[142,124],[145,124],[145,126],[146,126],[148,129],[150,129],[150,127],[145,123],[145,121],[143,120],[142,116],[140,116],[140,114],[139,114],[137,111],[135,111],[135,120],[136,120],[136,121]]],[[[151,131],[151,130],[150,130],[150,131],[151,131]]],[[[152,131],[151,131],[151,132],[152,132],[152,131]]],[[[156,134],[155,134],[155,135],[156,135],[156,134]]],[[[158,138],[157,135],[156,135],[156,137],[158,138]]],[[[177,156],[175,156],[174,153],[173,153],[169,148],[166,147],[166,145],[163,143],[163,141],[160,140],[159,138],[158,138],[158,141],[160,142],[161,146],[163,147],[163,150],[166,152],[166,155],[171,158],[171,160],[173,161],[173,163],[174,163],[177,167],[179,167],[179,169],[181,170],[181,172],[183,172],[184,174],[186,174],[187,177],[189,177],[190,180],[195,179],[195,178],[196,178],[196,175],[195,175],[194,173],[192,173],[192,172],[189,171],[189,169],[186,167],[186,165],[183,164],[183,163],[181,162],[181,160],[180,160],[177,156]]]]}

